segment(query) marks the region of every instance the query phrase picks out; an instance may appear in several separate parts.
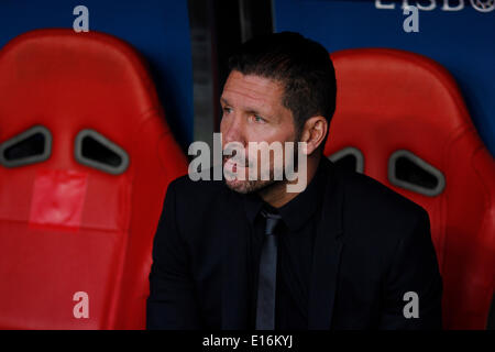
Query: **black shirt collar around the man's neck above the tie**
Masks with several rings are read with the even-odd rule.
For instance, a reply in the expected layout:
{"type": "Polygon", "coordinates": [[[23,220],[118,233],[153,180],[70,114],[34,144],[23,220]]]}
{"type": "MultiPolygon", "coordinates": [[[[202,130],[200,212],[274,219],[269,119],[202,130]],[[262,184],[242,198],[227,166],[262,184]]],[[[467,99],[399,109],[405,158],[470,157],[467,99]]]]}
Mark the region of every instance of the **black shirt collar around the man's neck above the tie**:
{"type": "MultiPolygon", "coordinates": [[[[315,176],[304,191],[276,209],[282,216],[283,222],[292,231],[300,229],[318,209],[322,197],[322,184],[326,179],[322,164],[322,162],[319,163],[315,176]]],[[[256,193],[243,195],[243,201],[246,217],[251,223],[254,222],[262,208],[266,208],[268,211],[275,209],[263,201],[256,193]]]]}

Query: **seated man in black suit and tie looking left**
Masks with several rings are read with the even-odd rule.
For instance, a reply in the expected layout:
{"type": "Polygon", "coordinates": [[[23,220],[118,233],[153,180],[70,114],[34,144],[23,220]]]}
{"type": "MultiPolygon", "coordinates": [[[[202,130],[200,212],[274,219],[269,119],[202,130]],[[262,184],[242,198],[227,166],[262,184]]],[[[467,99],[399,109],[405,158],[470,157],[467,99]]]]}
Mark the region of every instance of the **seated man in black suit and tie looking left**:
{"type": "MultiPolygon", "coordinates": [[[[441,328],[428,213],[322,155],[336,108],[327,51],[272,34],[244,43],[230,67],[220,132],[224,146],[244,146],[246,163],[224,157],[224,169],[260,166],[250,142],[304,142],[307,187],[289,193],[294,180],[273,177],[174,180],[154,241],[147,327],[441,328]]],[[[270,167],[273,176],[273,160],[270,167]]]]}

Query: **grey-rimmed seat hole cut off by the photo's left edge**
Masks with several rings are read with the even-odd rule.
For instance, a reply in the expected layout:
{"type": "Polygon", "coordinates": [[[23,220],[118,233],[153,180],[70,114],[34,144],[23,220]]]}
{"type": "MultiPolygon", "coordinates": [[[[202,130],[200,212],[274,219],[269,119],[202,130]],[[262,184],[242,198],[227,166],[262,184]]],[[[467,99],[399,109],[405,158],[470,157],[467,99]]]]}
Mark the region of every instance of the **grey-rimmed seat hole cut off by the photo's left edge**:
{"type": "Polygon", "coordinates": [[[36,125],[1,144],[0,164],[16,167],[40,163],[50,157],[51,150],[50,131],[42,125],[36,125]]]}

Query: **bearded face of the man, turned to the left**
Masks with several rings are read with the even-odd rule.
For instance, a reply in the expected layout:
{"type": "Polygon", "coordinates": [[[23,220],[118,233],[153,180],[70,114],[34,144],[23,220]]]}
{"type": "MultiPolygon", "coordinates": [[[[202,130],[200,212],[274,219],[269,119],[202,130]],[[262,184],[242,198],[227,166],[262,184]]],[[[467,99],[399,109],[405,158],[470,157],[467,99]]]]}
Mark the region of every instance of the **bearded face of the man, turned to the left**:
{"type": "MultiPolygon", "coordinates": [[[[223,114],[220,124],[222,147],[227,143],[239,142],[243,146],[245,165],[232,163],[231,156],[223,157],[227,173],[244,175],[243,179],[226,179],[229,188],[248,194],[273,184],[274,161],[270,165],[255,165],[249,155],[249,142],[296,142],[296,128],[293,113],[282,103],[284,87],[280,82],[254,75],[244,76],[233,70],[229,75],[220,99],[223,114]],[[230,161],[229,161],[230,160],[230,161]],[[249,179],[250,168],[270,168],[271,178],[262,180],[249,179]]],[[[260,153],[257,163],[261,162],[260,153]]],[[[285,163],[285,157],[283,163],[285,163]]],[[[283,164],[284,165],[284,164],[283,164]]],[[[260,174],[258,174],[260,175],[260,174]]]]}

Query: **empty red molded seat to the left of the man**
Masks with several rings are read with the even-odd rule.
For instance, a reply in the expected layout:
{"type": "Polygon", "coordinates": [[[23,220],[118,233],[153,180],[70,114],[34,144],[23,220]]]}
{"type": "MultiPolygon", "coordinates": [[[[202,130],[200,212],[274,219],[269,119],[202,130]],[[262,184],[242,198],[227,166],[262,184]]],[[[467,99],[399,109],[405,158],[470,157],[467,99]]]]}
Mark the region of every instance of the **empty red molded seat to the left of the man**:
{"type": "Polygon", "coordinates": [[[0,51],[0,328],[144,328],[187,160],[142,59],[110,35],[37,30],[0,51]]]}

